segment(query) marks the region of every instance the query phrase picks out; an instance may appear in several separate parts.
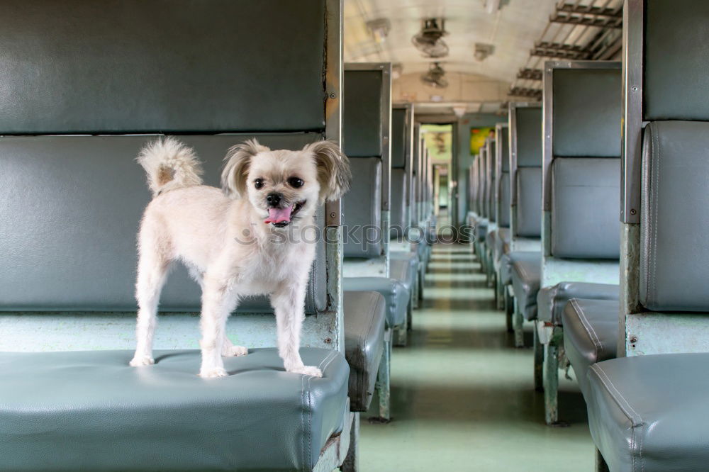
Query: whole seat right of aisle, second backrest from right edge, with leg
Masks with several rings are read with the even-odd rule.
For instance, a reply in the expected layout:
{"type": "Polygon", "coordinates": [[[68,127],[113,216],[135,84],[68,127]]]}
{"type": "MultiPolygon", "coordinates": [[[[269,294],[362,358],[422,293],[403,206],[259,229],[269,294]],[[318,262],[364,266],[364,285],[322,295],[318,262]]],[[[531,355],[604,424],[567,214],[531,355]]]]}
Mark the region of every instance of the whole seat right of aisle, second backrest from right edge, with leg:
{"type": "Polygon", "coordinates": [[[549,61],[545,81],[544,269],[537,297],[544,303],[535,320],[534,373],[552,424],[564,335],[559,312],[573,296],[620,295],[620,62],[549,61]]]}

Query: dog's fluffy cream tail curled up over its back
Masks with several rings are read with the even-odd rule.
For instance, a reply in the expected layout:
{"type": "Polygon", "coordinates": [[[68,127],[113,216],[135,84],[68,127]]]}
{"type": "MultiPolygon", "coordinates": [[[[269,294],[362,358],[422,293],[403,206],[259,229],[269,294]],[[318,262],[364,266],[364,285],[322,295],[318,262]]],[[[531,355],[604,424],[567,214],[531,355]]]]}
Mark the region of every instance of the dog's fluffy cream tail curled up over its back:
{"type": "Polygon", "coordinates": [[[194,150],[174,137],[149,142],[136,159],[147,172],[147,186],[156,197],[181,187],[201,185],[202,164],[194,150]]]}

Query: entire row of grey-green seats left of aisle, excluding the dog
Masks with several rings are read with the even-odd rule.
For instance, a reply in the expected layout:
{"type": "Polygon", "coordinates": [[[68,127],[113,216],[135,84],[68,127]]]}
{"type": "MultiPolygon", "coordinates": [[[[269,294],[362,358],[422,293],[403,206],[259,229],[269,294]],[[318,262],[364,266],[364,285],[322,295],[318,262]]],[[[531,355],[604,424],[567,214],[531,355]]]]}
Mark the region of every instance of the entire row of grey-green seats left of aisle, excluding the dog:
{"type": "Polygon", "coordinates": [[[374,390],[390,419],[391,344],[406,344],[423,296],[432,211],[391,66],[342,63],[342,1],[28,0],[0,28],[13,91],[0,111],[0,471],[356,471],[374,390]],[[316,218],[301,336],[322,378],[283,371],[266,298],[228,322],[250,354],[225,359],[226,378],[195,376],[200,292],[182,267],[162,291],[156,364],[128,366],[150,201],[133,158],[163,134],[194,147],[214,186],[225,151],[253,137],[344,144],[352,192],[316,218]]]}

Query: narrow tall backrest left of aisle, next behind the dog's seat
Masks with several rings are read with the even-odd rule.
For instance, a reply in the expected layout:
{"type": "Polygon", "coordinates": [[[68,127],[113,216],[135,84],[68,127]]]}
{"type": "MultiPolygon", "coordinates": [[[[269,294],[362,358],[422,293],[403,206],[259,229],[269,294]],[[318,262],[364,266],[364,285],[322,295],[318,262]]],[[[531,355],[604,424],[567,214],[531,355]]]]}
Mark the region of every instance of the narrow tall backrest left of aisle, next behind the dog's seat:
{"type": "MultiPolygon", "coordinates": [[[[359,259],[386,258],[391,192],[391,64],[345,64],[344,86],[343,150],[350,157],[352,169],[352,191],[342,198],[347,227],[344,254],[359,259]]],[[[394,140],[397,138],[394,136],[394,140]]]]}

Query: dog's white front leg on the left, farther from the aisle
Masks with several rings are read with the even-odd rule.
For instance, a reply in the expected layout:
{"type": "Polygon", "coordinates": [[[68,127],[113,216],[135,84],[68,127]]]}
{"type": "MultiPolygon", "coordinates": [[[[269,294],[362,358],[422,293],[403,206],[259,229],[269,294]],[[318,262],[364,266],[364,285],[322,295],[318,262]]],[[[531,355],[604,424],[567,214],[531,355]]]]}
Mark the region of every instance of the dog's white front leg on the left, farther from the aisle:
{"type": "Polygon", "coordinates": [[[202,286],[202,366],[199,376],[203,378],[225,377],[221,358],[226,337],[226,320],[236,308],[238,293],[228,286],[225,279],[206,276],[202,286]]]}

